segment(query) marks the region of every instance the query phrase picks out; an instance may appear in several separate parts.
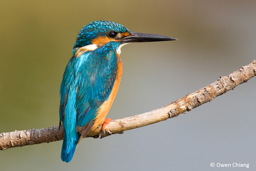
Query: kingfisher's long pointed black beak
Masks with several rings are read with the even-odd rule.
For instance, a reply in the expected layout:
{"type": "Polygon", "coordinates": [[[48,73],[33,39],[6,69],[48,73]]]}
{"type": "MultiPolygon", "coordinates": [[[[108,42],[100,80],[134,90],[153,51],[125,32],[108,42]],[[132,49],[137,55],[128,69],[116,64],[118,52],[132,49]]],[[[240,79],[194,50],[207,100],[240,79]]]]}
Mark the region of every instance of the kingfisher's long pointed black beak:
{"type": "Polygon", "coordinates": [[[131,32],[131,35],[121,39],[121,42],[122,43],[159,42],[159,41],[171,41],[171,40],[178,40],[178,39],[167,37],[167,36],[156,35],[156,34],[131,32]]]}

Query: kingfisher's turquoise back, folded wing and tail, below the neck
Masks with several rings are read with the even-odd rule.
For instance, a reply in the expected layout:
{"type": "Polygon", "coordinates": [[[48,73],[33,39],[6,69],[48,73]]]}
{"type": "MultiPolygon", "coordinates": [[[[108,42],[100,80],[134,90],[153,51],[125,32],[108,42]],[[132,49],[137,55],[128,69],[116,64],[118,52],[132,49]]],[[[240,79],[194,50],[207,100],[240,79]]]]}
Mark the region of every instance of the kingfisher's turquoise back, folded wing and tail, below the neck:
{"type": "Polygon", "coordinates": [[[116,53],[86,52],[72,57],[66,66],[60,87],[60,123],[64,127],[61,159],[69,162],[81,134],[77,125],[86,125],[88,132],[97,109],[108,99],[115,82],[116,53]]]}

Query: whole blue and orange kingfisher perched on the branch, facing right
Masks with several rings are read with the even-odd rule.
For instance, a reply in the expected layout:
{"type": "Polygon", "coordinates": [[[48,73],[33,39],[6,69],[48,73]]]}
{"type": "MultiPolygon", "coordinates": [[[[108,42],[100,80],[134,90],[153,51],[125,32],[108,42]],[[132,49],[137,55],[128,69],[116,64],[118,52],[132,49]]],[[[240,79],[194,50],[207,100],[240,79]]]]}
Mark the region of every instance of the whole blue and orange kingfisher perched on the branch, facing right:
{"type": "Polygon", "coordinates": [[[70,162],[81,138],[112,119],[106,115],[122,76],[121,47],[133,42],[176,38],[131,32],[121,24],[95,21],[82,27],[60,85],[60,124],[64,129],[63,162],[70,162]]]}

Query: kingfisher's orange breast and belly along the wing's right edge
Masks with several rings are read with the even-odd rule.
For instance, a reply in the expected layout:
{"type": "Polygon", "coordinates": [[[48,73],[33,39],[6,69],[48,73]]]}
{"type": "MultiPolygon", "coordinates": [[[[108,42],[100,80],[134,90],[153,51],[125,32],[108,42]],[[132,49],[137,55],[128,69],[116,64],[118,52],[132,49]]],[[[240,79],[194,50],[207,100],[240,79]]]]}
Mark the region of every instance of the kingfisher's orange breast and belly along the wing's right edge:
{"type": "Polygon", "coordinates": [[[102,125],[104,122],[104,119],[106,117],[106,115],[109,112],[109,109],[114,101],[115,95],[117,93],[120,81],[121,81],[121,76],[122,76],[122,62],[121,62],[121,58],[118,55],[118,53],[116,53],[116,57],[118,58],[117,60],[117,71],[116,71],[116,77],[115,77],[115,83],[114,86],[112,88],[112,91],[109,95],[108,100],[106,100],[100,107],[98,110],[98,114],[94,119],[94,125],[92,126],[91,131],[93,131],[94,129],[96,129],[98,126],[102,125]]]}

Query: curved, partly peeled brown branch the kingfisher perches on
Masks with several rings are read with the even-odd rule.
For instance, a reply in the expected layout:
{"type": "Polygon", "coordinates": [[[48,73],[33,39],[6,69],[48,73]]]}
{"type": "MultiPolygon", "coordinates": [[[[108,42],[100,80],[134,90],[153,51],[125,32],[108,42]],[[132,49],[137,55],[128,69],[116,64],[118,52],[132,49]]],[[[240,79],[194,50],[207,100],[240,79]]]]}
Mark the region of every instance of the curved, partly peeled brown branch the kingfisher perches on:
{"type": "MultiPolygon", "coordinates": [[[[210,102],[215,97],[234,89],[236,86],[247,82],[250,78],[256,75],[256,61],[253,60],[247,66],[241,67],[225,77],[220,77],[214,83],[197,90],[175,102],[165,105],[159,109],[152,110],[140,115],[135,115],[127,118],[112,120],[106,125],[106,131],[101,132],[101,126],[90,132],[87,137],[101,138],[112,135],[122,134],[123,131],[139,128],[142,126],[154,124],[168,118],[177,117],[186,111],[190,111],[206,102],[210,102]]],[[[49,143],[63,139],[63,127],[59,126],[30,129],[2,133],[0,134],[0,150],[5,150],[13,147],[22,147],[25,145],[34,145],[40,143],[49,143]]]]}

